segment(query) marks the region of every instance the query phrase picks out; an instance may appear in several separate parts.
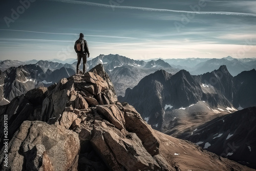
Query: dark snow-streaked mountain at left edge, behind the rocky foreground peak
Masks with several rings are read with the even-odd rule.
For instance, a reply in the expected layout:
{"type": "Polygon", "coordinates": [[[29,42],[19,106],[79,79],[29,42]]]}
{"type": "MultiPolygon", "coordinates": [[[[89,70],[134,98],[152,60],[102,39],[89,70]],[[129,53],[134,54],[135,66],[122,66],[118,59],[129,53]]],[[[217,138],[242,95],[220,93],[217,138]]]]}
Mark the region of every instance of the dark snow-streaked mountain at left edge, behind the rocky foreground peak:
{"type": "Polygon", "coordinates": [[[30,64],[0,71],[0,104],[7,104],[16,96],[25,94],[31,89],[50,86],[61,78],[75,74],[73,69],[64,67],[54,71],[48,69],[46,72],[43,69],[46,70],[46,67],[30,64]]]}

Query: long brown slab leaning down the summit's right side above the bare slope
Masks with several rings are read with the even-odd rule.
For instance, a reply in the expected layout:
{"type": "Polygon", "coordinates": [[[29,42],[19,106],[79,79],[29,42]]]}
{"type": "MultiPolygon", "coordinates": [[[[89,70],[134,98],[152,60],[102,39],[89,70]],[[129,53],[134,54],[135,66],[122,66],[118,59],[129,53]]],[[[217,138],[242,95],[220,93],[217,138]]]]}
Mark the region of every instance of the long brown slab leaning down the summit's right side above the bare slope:
{"type": "Polygon", "coordinates": [[[152,156],[159,154],[159,139],[152,127],[148,125],[140,114],[128,103],[123,104],[125,126],[127,131],[136,133],[141,139],[143,146],[152,156]],[[135,124],[136,123],[136,124],[135,124]]]}

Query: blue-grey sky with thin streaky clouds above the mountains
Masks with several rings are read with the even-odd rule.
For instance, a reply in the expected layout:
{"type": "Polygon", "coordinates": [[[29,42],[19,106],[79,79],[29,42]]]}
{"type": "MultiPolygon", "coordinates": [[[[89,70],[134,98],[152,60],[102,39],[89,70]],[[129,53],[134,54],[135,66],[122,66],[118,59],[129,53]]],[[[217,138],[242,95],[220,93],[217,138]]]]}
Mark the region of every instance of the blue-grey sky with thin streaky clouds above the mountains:
{"type": "Polygon", "coordinates": [[[1,1],[0,60],[256,57],[256,1],[1,1]]]}

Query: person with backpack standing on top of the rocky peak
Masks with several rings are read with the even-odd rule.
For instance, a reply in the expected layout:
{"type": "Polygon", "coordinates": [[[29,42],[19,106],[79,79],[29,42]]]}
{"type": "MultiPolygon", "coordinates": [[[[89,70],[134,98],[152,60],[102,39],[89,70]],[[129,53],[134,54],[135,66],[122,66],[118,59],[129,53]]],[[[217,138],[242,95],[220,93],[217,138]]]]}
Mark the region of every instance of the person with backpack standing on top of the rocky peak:
{"type": "Polygon", "coordinates": [[[76,40],[75,47],[74,47],[74,49],[77,53],[76,74],[79,74],[79,66],[80,66],[81,59],[82,59],[82,63],[83,63],[82,74],[86,73],[87,55],[88,55],[88,57],[90,57],[87,41],[84,40],[83,37],[84,37],[83,34],[80,33],[80,37],[78,40],[76,40]]]}

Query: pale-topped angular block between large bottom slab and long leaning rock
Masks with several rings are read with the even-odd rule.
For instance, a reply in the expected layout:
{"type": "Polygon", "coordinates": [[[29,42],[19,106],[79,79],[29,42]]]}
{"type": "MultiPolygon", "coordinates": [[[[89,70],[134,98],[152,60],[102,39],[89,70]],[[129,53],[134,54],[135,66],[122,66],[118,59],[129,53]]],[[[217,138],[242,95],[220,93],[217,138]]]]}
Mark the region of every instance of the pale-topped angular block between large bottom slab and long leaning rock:
{"type": "Polygon", "coordinates": [[[96,110],[99,114],[105,116],[118,129],[124,129],[125,120],[123,114],[115,104],[97,105],[96,110]]]}

